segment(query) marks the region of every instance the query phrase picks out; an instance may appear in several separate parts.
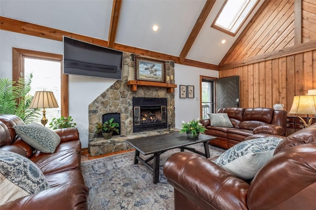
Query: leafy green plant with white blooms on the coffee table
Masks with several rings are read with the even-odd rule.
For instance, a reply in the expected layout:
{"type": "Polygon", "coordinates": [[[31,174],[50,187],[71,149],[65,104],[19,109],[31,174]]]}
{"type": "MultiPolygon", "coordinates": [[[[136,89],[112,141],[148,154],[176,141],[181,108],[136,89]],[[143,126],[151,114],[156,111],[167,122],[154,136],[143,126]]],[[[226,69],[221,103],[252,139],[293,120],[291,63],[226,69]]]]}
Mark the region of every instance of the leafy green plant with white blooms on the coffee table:
{"type": "Polygon", "coordinates": [[[189,138],[197,138],[198,135],[204,133],[205,130],[207,129],[197,118],[197,120],[194,119],[189,122],[182,121],[182,129],[180,130],[180,133],[187,133],[189,138]]]}

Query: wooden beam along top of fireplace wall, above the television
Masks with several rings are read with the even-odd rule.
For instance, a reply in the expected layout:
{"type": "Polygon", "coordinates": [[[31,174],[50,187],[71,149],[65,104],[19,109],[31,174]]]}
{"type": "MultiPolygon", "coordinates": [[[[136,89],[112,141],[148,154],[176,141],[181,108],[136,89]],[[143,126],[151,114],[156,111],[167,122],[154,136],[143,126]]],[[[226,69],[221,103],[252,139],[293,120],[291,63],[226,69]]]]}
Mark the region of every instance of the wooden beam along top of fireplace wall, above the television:
{"type": "MultiPolygon", "coordinates": [[[[38,36],[38,37],[57,40],[57,41],[63,41],[63,35],[65,35],[65,36],[75,38],[81,41],[85,41],[91,44],[100,45],[104,47],[108,46],[108,42],[102,39],[96,39],[96,38],[92,38],[92,37],[88,37],[84,35],[79,35],[79,34],[67,32],[64,30],[56,30],[56,29],[52,29],[52,28],[48,28],[44,26],[39,26],[36,24],[31,24],[27,22],[22,22],[22,21],[10,19],[10,18],[2,17],[2,16],[0,16],[0,26],[1,26],[1,30],[8,30],[12,32],[38,36]]],[[[127,53],[134,53],[141,56],[161,59],[161,60],[173,60],[176,63],[180,63],[179,57],[176,57],[176,56],[144,50],[141,48],[131,47],[131,46],[122,45],[118,43],[114,43],[113,49],[120,50],[127,53]]],[[[218,68],[218,65],[204,63],[204,62],[200,62],[196,60],[187,60],[187,59],[185,59],[184,62],[181,64],[195,66],[199,68],[212,69],[212,70],[216,70],[218,68]]]]}

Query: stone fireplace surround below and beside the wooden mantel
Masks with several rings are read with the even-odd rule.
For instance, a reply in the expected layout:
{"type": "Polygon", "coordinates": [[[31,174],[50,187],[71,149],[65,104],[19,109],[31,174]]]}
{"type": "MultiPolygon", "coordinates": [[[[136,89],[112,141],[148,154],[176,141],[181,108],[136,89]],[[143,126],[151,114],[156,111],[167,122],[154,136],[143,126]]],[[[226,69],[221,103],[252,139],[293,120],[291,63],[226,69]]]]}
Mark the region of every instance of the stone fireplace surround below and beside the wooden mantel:
{"type": "MultiPolygon", "coordinates": [[[[174,75],[174,62],[166,61],[165,76],[170,75],[174,75]]],[[[139,130],[133,124],[135,111],[135,107],[133,107],[133,98],[143,98],[145,100],[146,98],[156,98],[158,100],[164,100],[163,105],[160,105],[159,108],[159,111],[162,112],[161,114],[157,113],[158,110],[154,110],[157,106],[153,106],[154,109],[145,109],[146,112],[152,112],[153,115],[156,115],[156,120],[159,119],[159,121],[161,121],[153,122],[157,124],[152,126],[151,129],[175,127],[174,92],[167,92],[166,88],[150,86],[140,86],[137,88],[137,91],[131,91],[130,87],[127,85],[127,81],[129,80],[135,80],[134,55],[130,53],[124,53],[122,80],[116,81],[110,88],[101,93],[94,101],[89,104],[89,150],[91,142],[94,142],[95,144],[96,142],[101,142],[101,139],[98,139],[96,137],[95,125],[97,122],[103,121],[103,116],[105,114],[117,113],[120,116],[120,135],[112,137],[114,139],[110,139],[109,142],[114,141],[116,137],[122,138],[122,142],[124,142],[124,138],[127,138],[127,136],[129,135],[148,131],[148,129],[139,130]]],[[[141,115],[144,115],[144,113],[139,113],[139,122],[140,124],[144,124],[145,121],[140,121],[141,115]]],[[[142,127],[147,128],[146,126],[142,127]]],[[[114,145],[111,147],[109,146],[108,149],[103,150],[126,150],[125,144],[119,147],[117,147],[118,145],[114,145]]],[[[96,152],[96,155],[98,155],[99,153],[100,152],[96,152]]],[[[104,151],[102,151],[102,153],[104,153],[104,151]]]]}

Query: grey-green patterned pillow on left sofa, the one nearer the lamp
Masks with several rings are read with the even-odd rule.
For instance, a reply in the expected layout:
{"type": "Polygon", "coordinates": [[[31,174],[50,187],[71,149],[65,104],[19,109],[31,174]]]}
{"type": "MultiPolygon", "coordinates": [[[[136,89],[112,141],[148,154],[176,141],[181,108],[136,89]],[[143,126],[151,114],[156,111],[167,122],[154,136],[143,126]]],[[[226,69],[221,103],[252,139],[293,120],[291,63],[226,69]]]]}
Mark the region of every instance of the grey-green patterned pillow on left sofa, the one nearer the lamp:
{"type": "Polygon", "coordinates": [[[14,125],[13,128],[24,142],[44,153],[53,153],[60,143],[60,137],[54,131],[38,123],[14,125]]]}

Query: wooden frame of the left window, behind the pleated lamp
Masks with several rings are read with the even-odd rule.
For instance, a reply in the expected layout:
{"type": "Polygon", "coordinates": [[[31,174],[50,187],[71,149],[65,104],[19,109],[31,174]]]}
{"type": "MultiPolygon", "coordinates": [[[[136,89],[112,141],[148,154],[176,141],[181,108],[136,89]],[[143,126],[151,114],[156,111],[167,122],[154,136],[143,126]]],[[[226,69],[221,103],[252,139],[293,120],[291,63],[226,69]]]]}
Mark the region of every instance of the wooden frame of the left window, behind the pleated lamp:
{"type": "Polygon", "coordinates": [[[63,74],[63,56],[53,53],[45,53],[34,50],[26,50],[20,48],[12,48],[12,81],[17,81],[20,75],[24,76],[24,58],[51,60],[61,63],[61,116],[69,116],[69,91],[68,91],[68,75],[63,74]]]}

